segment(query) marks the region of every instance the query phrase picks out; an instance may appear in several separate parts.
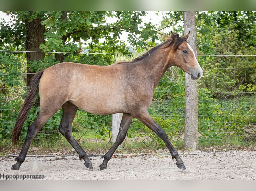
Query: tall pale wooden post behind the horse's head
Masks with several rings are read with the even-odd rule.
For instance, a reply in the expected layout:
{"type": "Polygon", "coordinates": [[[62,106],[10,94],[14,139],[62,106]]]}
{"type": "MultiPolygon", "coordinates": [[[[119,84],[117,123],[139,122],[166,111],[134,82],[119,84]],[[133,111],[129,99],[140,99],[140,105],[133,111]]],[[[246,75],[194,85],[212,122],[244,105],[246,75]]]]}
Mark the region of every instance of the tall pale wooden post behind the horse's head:
{"type": "MultiPolygon", "coordinates": [[[[197,55],[195,11],[183,11],[184,34],[191,32],[188,43],[197,55]]],[[[197,58],[197,56],[196,56],[197,58]]],[[[185,73],[185,149],[195,151],[198,146],[198,82],[185,73]]]]}

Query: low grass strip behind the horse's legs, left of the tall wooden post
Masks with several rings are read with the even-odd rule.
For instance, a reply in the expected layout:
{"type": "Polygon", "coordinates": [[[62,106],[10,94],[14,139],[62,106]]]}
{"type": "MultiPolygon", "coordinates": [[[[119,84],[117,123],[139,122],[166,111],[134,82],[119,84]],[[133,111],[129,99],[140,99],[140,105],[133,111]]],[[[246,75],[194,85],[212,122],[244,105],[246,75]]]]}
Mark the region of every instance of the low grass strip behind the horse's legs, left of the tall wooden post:
{"type": "MultiPolygon", "coordinates": [[[[113,142],[96,138],[78,141],[79,145],[87,152],[87,154],[105,154],[113,142]]],[[[177,150],[183,150],[184,142],[172,143],[177,150]]],[[[13,147],[10,140],[0,147],[0,156],[18,155],[23,142],[20,142],[16,147],[13,147]]],[[[156,151],[158,149],[167,149],[162,147],[154,140],[137,140],[126,138],[125,141],[118,147],[115,153],[145,153],[148,151],[156,151]]],[[[32,142],[28,155],[49,155],[53,153],[61,154],[77,154],[74,148],[65,139],[59,139],[51,142],[32,142]]]]}

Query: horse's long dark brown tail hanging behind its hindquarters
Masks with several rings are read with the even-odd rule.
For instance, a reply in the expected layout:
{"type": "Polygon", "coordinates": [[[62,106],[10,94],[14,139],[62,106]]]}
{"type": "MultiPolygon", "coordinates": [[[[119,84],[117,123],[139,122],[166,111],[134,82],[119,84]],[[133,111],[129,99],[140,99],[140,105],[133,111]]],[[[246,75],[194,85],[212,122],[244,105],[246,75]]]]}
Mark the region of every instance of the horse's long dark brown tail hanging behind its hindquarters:
{"type": "Polygon", "coordinates": [[[29,111],[32,108],[34,101],[36,99],[37,92],[38,92],[38,85],[39,85],[38,82],[39,82],[39,79],[42,77],[42,75],[43,75],[43,70],[36,73],[31,81],[27,97],[20,109],[15,127],[12,130],[12,144],[14,146],[16,144],[18,144],[18,142],[19,142],[19,136],[20,136],[21,129],[22,129],[23,124],[25,123],[27,116],[29,114],[29,111]]]}

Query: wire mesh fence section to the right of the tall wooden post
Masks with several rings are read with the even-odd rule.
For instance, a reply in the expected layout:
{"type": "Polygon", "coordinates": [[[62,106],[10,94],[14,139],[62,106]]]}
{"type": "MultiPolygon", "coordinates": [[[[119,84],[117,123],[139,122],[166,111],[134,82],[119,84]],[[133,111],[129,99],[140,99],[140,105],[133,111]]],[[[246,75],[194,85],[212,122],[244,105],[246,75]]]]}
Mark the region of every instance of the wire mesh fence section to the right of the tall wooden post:
{"type": "Polygon", "coordinates": [[[234,144],[238,139],[255,143],[256,69],[205,70],[215,71],[217,75],[202,82],[210,90],[214,100],[199,99],[199,104],[202,105],[199,108],[199,129],[202,136],[200,139],[208,139],[205,143],[215,144],[221,140],[225,140],[225,144],[234,144]]]}

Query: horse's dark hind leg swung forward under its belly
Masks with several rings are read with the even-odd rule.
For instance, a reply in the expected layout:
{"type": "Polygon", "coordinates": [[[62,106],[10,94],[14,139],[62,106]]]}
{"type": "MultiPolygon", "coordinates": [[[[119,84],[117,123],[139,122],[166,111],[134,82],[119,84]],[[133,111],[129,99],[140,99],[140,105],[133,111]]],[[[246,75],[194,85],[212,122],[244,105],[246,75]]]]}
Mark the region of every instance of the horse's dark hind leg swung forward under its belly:
{"type": "Polygon", "coordinates": [[[67,139],[71,146],[77,151],[80,160],[84,159],[85,166],[89,169],[93,169],[92,163],[86,152],[81,148],[77,141],[72,136],[71,126],[75,118],[78,108],[70,102],[66,102],[62,105],[63,115],[59,125],[59,132],[67,139]]]}

